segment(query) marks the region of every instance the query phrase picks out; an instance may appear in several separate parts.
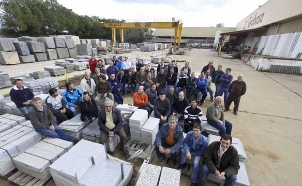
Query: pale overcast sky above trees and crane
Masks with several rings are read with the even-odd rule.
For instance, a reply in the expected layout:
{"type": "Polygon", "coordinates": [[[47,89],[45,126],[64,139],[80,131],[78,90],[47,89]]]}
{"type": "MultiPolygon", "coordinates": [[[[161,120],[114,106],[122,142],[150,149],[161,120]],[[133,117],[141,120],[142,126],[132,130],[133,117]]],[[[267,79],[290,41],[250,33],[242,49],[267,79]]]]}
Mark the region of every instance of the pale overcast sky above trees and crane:
{"type": "MultiPolygon", "coordinates": [[[[236,24],[268,0],[58,0],[79,15],[115,19],[181,18],[184,27],[236,24]]],[[[150,21],[151,21],[150,20],[150,21]]]]}

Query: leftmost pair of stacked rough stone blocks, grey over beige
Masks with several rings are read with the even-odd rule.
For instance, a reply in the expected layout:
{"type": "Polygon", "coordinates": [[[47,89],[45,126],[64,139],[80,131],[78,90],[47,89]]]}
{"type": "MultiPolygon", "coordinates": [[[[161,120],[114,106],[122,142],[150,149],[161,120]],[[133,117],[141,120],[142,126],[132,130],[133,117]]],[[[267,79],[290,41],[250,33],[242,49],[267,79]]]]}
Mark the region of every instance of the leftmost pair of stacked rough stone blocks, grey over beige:
{"type": "Polygon", "coordinates": [[[0,38],[0,64],[14,65],[19,64],[18,53],[10,38],[0,38]]]}

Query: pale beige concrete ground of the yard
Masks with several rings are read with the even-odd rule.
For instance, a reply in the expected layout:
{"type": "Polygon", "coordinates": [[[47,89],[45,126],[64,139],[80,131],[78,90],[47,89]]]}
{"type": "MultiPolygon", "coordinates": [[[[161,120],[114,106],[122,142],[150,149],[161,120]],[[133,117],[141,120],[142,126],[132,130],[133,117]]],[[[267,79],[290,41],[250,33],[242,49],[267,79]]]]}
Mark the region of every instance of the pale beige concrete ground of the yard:
{"type": "MultiPolygon", "coordinates": [[[[149,54],[151,55],[152,52],[149,54]]],[[[127,54],[131,59],[146,53],[127,54]]],[[[193,49],[184,56],[173,55],[176,59],[190,62],[193,72],[200,72],[210,59],[214,66],[229,67],[234,80],[244,75],[247,92],[242,96],[238,115],[231,111],[226,119],[233,123],[232,136],[240,138],[247,152],[245,164],[251,186],[300,186],[302,182],[302,76],[259,72],[238,59],[217,57],[208,49],[193,49]],[[299,173],[300,172],[300,173],[299,173]]],[[[43,62],[40,62],[43,63],[43,62]]],[[[0,66],[4,72],[29,73],[40,63],[0,66]],[[28,68],[25,67],[28,65],[28,68]],[[3,67],[3,68],[2,68],[3,67]],[[19,69],[19,70],[16,70],[19,69]]],[[[178,67],[184,66],[178,63],[178,67]]],[[[13,75],[11,75],[13,76],[13,75]]],[[[133,103],[131,96],[124,103],[133,103]]],[[[210,104],[209,96],[202,107],[204,114],[210,104]]],[[[231,108],[233,106],[231,105],[231,108]]],[[[120,157],[119,153],[113,156],[120,157]]],[[[155,157],[156,159],[156,157],[155,157]]],[[[154,161],[152,161],[154,162],[154,161]]],[[[139,169],[140,161],[135,163],[139,169]]],[[[208,186],[215,184],[207,183],[208,186]]],[[[0,178],[0,186],[10,186],[0,178]]],[[[181,176],[181,186],[190,186],[188,176],[181,176]]]]}

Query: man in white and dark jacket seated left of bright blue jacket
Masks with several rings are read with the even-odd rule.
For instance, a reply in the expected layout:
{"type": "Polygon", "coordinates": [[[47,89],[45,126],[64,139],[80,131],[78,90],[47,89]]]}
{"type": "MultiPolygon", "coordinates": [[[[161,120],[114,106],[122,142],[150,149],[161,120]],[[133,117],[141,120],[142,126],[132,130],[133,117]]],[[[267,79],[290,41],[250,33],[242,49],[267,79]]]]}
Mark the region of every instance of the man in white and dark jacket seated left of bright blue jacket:
{"type": "Polygon", "coordinates": [[[75,116],[70,109],[66,108],[66,103],[56,88],[50,88],[48,92],[49,96],[45,99],[45,104],[52,114],[56,116],[58,124],[75,116]]]}

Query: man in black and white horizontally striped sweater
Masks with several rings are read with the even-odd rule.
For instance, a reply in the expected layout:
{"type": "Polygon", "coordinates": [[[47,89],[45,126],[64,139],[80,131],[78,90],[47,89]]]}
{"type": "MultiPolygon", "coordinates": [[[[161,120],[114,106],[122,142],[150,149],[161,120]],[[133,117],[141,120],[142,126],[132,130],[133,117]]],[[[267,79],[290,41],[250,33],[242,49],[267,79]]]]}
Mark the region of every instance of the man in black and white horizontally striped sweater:
{"type": "Polygon", "coordinates": [[[200,124],[202,109],[197,106],[197,100],[191,99],[190,106],[184,109],[184,132],[188,133],[193,129],[194,124],[200,124]]]}

